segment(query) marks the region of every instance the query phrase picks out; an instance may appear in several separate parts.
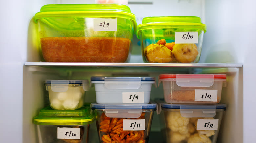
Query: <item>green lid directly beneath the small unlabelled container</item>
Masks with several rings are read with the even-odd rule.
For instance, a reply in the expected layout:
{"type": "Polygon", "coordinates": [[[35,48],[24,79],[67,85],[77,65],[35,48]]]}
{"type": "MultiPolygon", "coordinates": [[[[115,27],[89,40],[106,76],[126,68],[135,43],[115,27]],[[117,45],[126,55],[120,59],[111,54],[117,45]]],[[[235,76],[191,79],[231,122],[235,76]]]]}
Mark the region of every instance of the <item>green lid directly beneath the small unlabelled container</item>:
{"type": "Polygon", "coordinates": [[[46,107],[40,110],[39,116],[34,117],[37,125],[87,125],[91,124],[95,117],[90,114],[89,105],[76,110],[54,110],[46,107]]]}

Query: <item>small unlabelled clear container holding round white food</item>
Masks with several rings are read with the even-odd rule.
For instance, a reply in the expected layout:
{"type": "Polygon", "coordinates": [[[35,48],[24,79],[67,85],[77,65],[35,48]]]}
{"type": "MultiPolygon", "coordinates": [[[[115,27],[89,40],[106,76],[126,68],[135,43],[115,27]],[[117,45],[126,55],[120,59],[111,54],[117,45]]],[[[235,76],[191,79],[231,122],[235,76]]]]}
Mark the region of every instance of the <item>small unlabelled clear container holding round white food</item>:
{"type": "Polygon", "coordinates": [[[88,80],[46,80],[50,106],[58,110],[75,110],[84,105],[88,80]]]}

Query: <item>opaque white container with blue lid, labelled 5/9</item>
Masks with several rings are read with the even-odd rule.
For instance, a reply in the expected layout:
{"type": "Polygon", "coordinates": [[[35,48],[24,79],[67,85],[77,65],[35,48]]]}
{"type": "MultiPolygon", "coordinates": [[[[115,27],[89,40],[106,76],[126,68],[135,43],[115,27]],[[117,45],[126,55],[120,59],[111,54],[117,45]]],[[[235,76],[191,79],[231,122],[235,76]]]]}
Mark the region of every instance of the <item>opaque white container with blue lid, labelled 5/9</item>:
{"type": "Polygon", "coordinates": [[[91,77],[99,104],[147,104],[154,77],[91,77]]]}

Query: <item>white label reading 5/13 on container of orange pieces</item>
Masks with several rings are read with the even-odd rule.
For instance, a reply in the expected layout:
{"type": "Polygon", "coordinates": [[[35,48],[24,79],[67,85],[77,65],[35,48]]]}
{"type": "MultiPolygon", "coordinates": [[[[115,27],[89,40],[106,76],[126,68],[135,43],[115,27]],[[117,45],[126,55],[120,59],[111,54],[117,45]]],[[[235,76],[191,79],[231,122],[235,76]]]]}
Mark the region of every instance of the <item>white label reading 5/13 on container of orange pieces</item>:
{"type": "Polygon", "coordinates": [[[144,131],[145,119],[139,120],[123,120],[124,131],[144,131]]]}

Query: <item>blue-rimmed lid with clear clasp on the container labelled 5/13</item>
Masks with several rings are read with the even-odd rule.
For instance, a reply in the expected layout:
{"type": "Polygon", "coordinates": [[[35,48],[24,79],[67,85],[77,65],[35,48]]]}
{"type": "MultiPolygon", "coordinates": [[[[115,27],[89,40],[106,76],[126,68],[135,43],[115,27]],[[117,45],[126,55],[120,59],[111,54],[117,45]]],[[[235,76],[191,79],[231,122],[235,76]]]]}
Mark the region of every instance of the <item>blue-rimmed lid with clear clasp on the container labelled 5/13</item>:
{"type": "Polygon", "coordinates": [[[110,118],[138,118],[142,112],[156,111],[157,104],[91,104],[92,110],[104,111],[110,118]]]}

